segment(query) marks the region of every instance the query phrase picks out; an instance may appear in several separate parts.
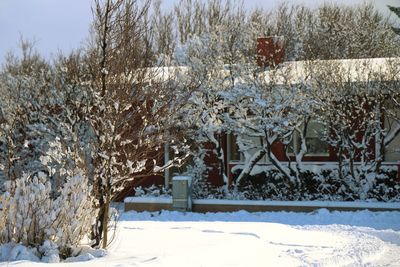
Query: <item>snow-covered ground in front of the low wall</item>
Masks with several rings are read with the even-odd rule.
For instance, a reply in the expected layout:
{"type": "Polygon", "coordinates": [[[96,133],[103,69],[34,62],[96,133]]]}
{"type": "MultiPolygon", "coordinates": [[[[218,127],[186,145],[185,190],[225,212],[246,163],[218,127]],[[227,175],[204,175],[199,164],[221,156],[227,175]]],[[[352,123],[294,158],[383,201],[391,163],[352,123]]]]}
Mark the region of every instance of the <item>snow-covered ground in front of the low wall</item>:
{"type": "Polygon", "coordinates": [[[106,256],[64,265],[400,266],[400,212],[127,212],[106,256]]]}

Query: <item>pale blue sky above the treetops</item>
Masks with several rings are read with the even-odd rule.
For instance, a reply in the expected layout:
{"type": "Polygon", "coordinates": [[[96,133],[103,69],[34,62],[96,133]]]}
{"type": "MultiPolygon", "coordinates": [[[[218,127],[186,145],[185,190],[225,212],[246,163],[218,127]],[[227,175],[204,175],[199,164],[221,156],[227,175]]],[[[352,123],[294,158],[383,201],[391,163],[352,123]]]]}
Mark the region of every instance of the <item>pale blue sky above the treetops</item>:
{"type": "MultiPolygon", "coordinates": [[[[386,5],[400,6],[400,0],[370,0],[380,11],[386,5]]],[[[170,9],[177,0],[163,0],[163,7],[170,9]]],[[[271,9],[281,0],[244,0],[246,7],[271,9]]],[[[292,0],[309,6],[324,0],[292,0]]],[[[364,0],[330,0],[344,4],[363,3],[364,0]]],[[[7,52],[17,52],[21,37],[33,41],[35,48],[47,58],[81,46],[89,32],[92,20],[92,0],[0,0],[0,64],[7,52]]]]}

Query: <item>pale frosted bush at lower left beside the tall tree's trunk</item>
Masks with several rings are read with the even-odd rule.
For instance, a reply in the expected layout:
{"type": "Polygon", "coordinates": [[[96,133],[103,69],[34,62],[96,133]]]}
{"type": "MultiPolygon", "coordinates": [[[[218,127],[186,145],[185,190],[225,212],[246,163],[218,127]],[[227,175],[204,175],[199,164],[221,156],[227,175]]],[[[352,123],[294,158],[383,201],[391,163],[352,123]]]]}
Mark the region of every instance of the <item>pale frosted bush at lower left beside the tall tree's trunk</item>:
{"type": "Polygon", "coordinates": [[[1,198],[1,243],[33,246],[43,250],[43,256],[54,257],[43,247],[52,242],[52,250],[67,257],[90,232],[95,210],[85,176],[70,177],[55,199],[50,179],[43,172],[25,174],[8,182],[6,189],[1,198]]]}

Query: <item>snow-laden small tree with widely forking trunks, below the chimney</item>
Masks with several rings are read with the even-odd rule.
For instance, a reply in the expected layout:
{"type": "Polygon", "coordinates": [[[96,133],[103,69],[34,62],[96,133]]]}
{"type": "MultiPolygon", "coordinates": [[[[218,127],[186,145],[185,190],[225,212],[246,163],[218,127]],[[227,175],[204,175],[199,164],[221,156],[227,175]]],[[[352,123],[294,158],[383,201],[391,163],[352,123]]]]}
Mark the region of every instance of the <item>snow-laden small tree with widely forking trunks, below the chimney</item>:
{"type": "Polygon", "coordinates": [[[290,188],[300,185],[301,159],[307,153],[305,134],[312,115],[312,101],[307,98],[307,83],[292,84],[290,68],[251,71],[247,81],[226,94],[230,100],[233,133],[239,150],[245,155],[245,166],[237,183],[248,177],[254,166],[266,156],[283,175],[290,188]],[[302,125],[305,127],[302,129],[302,125]],[[285,166],[274,155],[277,143],[290,146],[294,132],[300,133],[302,146],[297,154],[297,168],[285,166]],[[259,142],[255,143],[255,140],[259,142]],[[258,143],[258,144],[257,144],[258,143]]]}

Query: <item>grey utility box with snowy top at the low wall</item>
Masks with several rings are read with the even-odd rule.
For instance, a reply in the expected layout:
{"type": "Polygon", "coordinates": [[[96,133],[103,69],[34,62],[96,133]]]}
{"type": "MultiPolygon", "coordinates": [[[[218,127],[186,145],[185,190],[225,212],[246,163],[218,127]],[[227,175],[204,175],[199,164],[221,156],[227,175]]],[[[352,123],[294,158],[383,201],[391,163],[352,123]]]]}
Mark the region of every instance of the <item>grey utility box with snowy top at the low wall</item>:
{"type": "Polygon", "coordinates": [[[172,178],[172,207],[174,210],[192,210],[191,187],[192,178],[190,176],[174,176],[172,178]]]}

